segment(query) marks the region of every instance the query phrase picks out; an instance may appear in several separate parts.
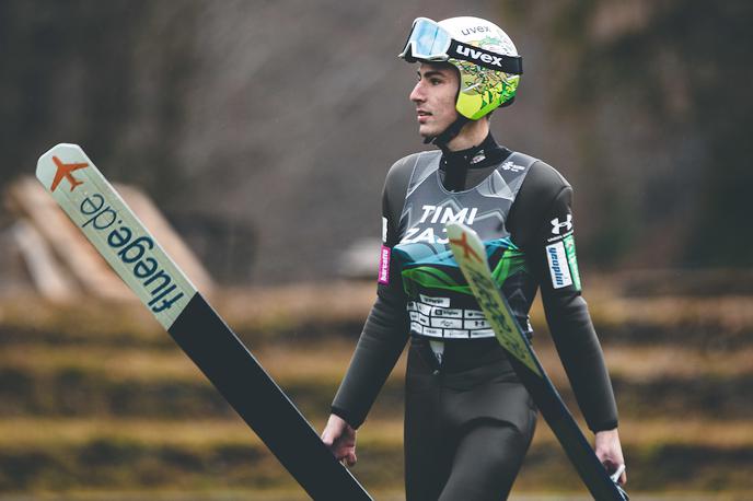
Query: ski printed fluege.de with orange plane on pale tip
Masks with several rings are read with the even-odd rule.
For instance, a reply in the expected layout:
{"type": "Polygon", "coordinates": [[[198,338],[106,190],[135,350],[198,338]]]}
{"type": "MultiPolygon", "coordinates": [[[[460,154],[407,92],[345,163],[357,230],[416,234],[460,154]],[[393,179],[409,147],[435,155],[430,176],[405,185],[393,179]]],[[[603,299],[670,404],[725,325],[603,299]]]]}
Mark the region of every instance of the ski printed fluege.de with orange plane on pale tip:
{"type": "Polygon", "coordinates": [[[311,498],[372,499],[79,145],[43,154],[36,177],[311,498]]]}

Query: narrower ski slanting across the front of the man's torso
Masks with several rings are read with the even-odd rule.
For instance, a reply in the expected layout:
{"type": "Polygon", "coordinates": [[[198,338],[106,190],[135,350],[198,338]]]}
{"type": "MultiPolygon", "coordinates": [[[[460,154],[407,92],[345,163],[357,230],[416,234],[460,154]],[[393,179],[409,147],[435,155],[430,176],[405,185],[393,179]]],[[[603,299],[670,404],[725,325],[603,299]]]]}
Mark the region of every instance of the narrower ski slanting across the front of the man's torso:
{"type": "Polygon", "coordinates": [[[518,377],[531,394],[593,499],[627,501],[627,493],[616,483],[617,477],[610,477],[596,457],[552,380],[546,375],[528,336],[512,315],[507,300],[491,279],[484,243],[476,232],[459,223],[449,223],[447,234],[455,260],[491,325],[497,340],[512,356],[509,359],[518,377]]]}

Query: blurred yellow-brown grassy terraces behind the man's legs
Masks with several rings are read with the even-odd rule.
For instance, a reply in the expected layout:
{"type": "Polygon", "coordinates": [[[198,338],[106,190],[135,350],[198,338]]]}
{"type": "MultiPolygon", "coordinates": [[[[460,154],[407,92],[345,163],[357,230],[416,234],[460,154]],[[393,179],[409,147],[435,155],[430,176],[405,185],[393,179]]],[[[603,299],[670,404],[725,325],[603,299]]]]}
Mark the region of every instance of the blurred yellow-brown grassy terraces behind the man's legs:
{"type": "MultiPolygon", "coordinates": [[[[599,286],[589,301],[632,498],[753,499],[750,299],[627,298],[599,286]]],[[[213,303],[321,429],[372,298],[370,284],[301,286],[225,291],[213,303]]],[[[536,351],[572,408],[541,318],[536,306],[536,351]]],[[[359,432],[354,473],[382,500],[402,499],[403,372],[401,360],[359,432]]],[[[582,491],[540,421],[512,499],[582,491]]],[[[140,305],[14,298],[0,300],[0,499],[305,498],[140,305]]]]}

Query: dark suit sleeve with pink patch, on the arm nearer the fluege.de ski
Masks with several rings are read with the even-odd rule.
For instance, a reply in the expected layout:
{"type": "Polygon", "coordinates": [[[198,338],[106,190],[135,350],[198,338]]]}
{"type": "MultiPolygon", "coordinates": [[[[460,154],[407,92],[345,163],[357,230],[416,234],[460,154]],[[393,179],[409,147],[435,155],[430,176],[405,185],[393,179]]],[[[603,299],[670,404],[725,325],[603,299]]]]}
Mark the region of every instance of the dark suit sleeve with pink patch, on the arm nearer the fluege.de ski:
{"type": "MultiPolygon", "coordinates": [[[[399,162],[398,162],[399,164],[399,162]]],[[[387,174],[382,195],[382,249],[380,254],[376,301],[358,339],[350,365],[332,404],[333,413],[354,428],[360,427],[408,339],[407,298],[403,291],[399,265],[392,248],[398,242],[397,218],[407,186],[399,165],[387,174]]]]}

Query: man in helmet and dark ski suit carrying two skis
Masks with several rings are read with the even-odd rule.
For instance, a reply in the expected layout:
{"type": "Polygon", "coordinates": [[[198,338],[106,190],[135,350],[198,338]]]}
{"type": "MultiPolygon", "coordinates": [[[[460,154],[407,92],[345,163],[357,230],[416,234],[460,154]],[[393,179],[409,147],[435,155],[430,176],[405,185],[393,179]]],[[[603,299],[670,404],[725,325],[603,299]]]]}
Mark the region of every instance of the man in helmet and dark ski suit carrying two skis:
{"type": "Polygon", "coordinates": [[[508,496],[536,410],[462,275],[447,265],[443,225],[460,221],[484,240],[495,278],[529,335],[529,310],[541,289],[596,455],[616,470],[624,464],[617,410],[580,293],[572,189],[553,167],[489,133],[489,114],[512,103],[522,73],[514,45],[477,18],[419,18],[401,57],[420,63],[410,101],[420,136],[440,150],[406,156],[387,174],[378,299],[322,439],[338,459],[356,463],[356,429],[409,339],[407,500],[508,496]]]}

